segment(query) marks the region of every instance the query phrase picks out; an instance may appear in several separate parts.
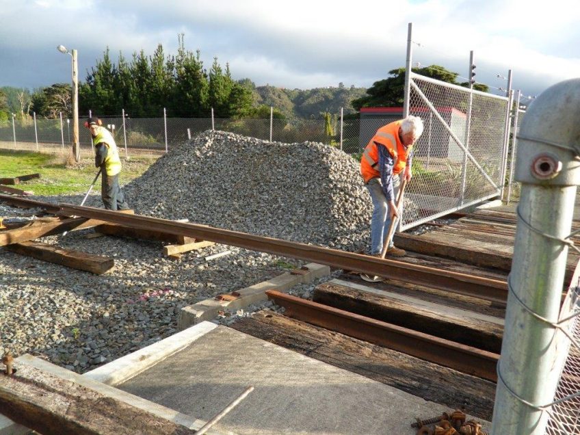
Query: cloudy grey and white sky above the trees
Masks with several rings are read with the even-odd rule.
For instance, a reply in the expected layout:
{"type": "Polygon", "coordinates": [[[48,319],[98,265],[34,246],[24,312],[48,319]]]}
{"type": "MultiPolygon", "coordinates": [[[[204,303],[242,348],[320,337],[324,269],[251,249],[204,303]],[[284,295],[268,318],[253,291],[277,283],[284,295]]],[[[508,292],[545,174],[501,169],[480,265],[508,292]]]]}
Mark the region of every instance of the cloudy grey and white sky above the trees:
{"type": "MultiPolygon", "coordinates": [[[[580,77],[577,0],[0,0],[0,86],[37,88],[70,82],[79,51],[79,79],[108,46],[131,58],[157,44],[175,54],[177,35],[214,56],[235,79],[309,89],[369,87],[405,65],[413,23],[413,65],[439,64],[466,77],[469,51],[476,79],[505,88],[497,75],[513,70],[513,88],[540,94],[580,77]]],[[[461,79],[460,79],[461,80],[461,79]]]]}

